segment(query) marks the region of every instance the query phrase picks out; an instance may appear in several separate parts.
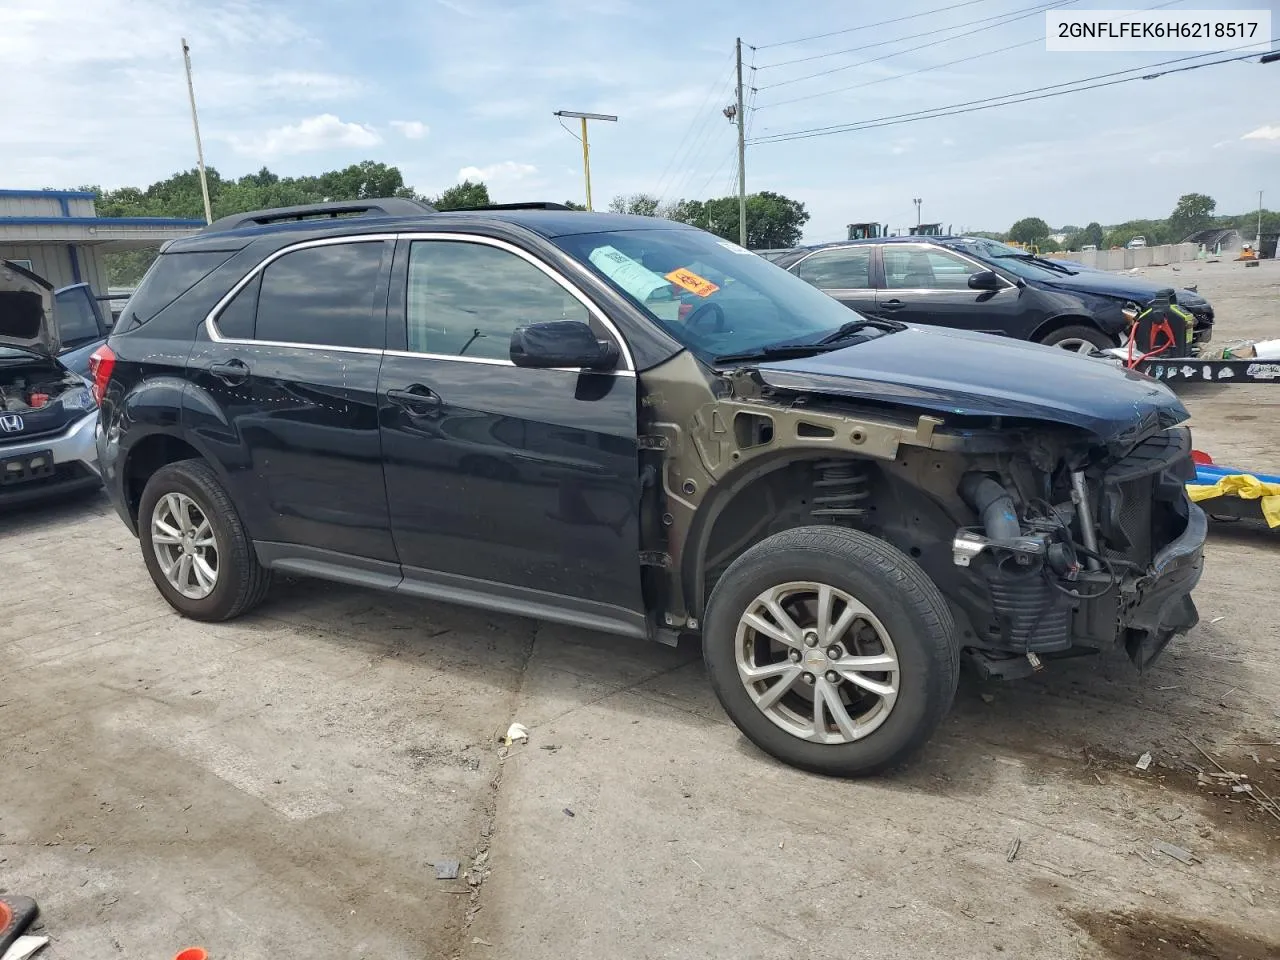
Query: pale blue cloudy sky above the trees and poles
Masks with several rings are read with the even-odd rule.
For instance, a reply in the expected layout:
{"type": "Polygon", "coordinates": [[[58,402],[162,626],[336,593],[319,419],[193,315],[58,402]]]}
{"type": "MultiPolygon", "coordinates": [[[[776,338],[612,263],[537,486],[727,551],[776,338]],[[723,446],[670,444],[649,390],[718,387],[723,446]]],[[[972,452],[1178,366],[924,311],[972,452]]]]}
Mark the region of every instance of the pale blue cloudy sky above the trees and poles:
{"type": "MultiPolygon", "coordinates": [[[[751,137],[1187,56],[1047,52],[1041,10],[1051,3],[0,0],[0,187],[145,186],[192,166],[183,36],[206,161],[223,175],[374,159],[428,193],[470,177],[499,201],[581,200],[579,143],[552,114],[586,110],[621,118],[591,129],[598,207],[635,191],[673,200],[733,189],[733,128],[721,110],[736,36],[749,45],[751,137]],[[842,32],[787,42],[833,31],[842,32]]],[[[1270,9],[1280,32],[1280,0],[1169,9],[1245,6],[1270,9]]],[[[748,148],[748,189],[804,201],[810,241],[838,238],[852,220],[914,223],[913,197],[924,200],[925,220],[956,229],[1004,229],[1027,215],[1055,225],[1164,216],[1190,191],[1234,212],[1265,189],[1276,209],[1277,93],[1280,64],[1247,60],[762,142],[748,148]]]]}

